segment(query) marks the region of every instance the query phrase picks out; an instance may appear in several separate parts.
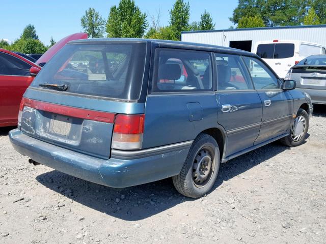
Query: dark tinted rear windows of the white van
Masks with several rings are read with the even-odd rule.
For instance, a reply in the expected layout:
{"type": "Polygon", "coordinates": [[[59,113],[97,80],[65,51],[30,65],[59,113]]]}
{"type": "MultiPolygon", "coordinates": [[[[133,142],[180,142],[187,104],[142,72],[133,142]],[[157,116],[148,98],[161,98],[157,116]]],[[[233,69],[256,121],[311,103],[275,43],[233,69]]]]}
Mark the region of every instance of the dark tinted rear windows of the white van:
{"type": "Polygon", "coordinates": [[[257,55],[261,58],[288,58],[294,56],[293,43],[259,44],[257,55]]]}

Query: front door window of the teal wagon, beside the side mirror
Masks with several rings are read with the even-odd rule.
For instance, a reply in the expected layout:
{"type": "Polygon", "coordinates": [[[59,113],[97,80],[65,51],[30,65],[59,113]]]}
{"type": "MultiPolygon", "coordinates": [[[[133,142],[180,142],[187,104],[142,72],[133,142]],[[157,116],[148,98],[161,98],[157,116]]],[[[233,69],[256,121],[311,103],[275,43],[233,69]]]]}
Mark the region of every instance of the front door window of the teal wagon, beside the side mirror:
{"type": "Polygon", "coordinates": [[[250,71],[255,89],[279,88],[278,78],[259,59],[254,57],[243,57],[243,60],[250,71]]]}

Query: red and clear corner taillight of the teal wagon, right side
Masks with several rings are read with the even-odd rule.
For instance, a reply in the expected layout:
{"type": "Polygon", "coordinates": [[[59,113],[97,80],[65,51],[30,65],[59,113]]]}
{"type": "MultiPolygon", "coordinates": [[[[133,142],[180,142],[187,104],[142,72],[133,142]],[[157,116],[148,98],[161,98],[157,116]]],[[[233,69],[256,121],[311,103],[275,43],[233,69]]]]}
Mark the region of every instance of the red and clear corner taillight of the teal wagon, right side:
{"type": "Polygon", "coordinates": [[[140,149],[144,134],[144,114],[118,114],[114,123],[112,148],[140,149]]]}

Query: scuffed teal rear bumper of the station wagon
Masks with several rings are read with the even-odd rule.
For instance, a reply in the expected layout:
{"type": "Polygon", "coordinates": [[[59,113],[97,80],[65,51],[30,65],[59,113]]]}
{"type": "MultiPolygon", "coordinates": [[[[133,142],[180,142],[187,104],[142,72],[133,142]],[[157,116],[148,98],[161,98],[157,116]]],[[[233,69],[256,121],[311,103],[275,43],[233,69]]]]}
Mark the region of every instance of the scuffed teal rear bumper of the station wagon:
{"type": "Polygon", "coordinates": [[[141,185],[179,174],[192,144],[188,141],[134,153],[116,151],[110,159],[102,160],[37,140],[18,129],[10,131],[9,138],[20,154],[40,164],[115,188],[141,185]]]}

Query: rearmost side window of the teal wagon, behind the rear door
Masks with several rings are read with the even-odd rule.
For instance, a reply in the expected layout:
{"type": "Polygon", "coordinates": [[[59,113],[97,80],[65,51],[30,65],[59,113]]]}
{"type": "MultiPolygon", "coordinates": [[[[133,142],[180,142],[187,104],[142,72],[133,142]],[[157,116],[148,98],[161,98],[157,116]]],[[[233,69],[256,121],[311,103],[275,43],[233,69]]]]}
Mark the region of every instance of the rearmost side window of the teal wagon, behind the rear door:
{"type": "Polygon", "coordinates": [[[152,92],[189,92],[212,89],[210,53],[180,49],[155,50],[152,92]]]}

